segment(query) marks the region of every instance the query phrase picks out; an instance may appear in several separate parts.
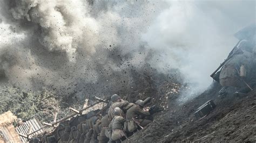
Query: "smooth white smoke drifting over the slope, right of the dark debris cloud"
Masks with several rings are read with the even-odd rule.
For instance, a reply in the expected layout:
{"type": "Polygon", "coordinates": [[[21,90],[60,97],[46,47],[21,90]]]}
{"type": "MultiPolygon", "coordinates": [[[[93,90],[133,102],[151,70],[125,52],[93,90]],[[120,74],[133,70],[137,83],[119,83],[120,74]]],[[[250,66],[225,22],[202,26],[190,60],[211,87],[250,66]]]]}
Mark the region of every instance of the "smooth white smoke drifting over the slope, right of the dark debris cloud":
{"type": "Polygon", "coordinates": [[[169,1],[169,6],[143,38],[156,51],[154,67],[178,68],[192,84],[180,97],[185,102],[210,85],[210,74],[238,41],[233,34],[255,22],[255,1],[169,1]]]}

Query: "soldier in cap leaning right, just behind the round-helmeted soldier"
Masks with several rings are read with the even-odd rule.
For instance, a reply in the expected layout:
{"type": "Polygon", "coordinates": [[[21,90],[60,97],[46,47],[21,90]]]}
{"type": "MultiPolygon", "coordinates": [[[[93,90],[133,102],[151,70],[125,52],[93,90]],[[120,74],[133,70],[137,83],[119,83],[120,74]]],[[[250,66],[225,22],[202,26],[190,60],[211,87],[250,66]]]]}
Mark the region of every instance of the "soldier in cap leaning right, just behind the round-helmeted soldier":
{"type": "Polygon", "coordinates": [[[120,96],[118,96],[117,94],[114,94],[111,96],[111,101],[112,101],[112,104],[110,106],[110,109],[109,109],[109,120],[111,121],[112,118],[113,118],[113,111],[114,111],[114,108],[120,108],[122,109],[122,111],[126,112],[126,106],[129,105],[129,102],[128,101],[124,101],[123,99],[121,99],[120,96]]]}

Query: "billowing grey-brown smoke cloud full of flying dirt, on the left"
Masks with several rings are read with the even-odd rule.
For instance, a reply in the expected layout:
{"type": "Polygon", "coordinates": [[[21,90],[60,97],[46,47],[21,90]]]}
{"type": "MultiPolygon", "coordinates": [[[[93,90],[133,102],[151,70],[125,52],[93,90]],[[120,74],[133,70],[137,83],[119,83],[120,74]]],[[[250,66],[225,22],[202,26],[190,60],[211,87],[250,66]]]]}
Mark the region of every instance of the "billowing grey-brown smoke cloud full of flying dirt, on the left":
{"type": "Polygon", "coordinates": [[[1,1],[0,78],[81,98],[132,90],[133,74],[150,69],[141,34],[164,4],[1,1]]]}

